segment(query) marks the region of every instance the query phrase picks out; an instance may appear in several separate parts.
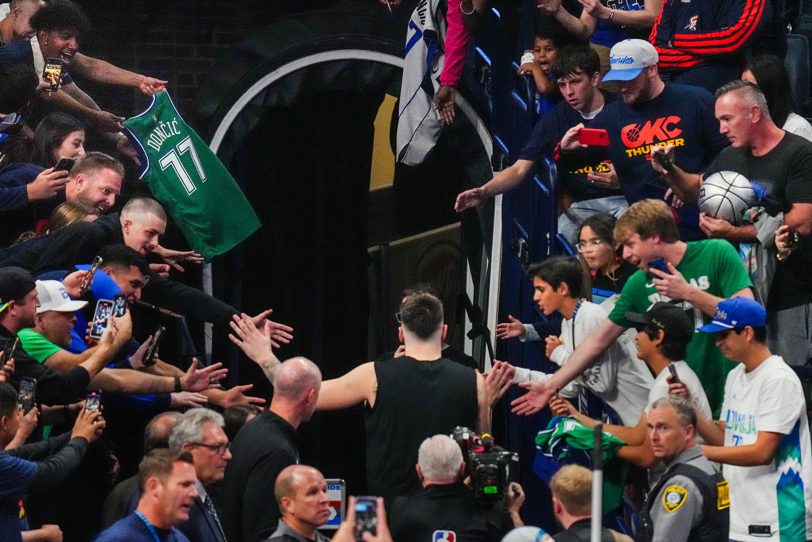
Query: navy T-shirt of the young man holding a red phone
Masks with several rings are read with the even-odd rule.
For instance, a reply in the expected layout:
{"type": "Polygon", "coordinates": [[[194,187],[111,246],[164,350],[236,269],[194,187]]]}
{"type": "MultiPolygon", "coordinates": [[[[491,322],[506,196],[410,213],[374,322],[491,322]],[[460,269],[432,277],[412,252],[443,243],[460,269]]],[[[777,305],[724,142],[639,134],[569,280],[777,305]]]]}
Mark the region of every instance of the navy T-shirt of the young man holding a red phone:
{"type": "MultiPolygon", "coordinates": [[[[615,100],[615,95],[608,92],[604,92],[603,97],[607,101],[604,108],[615,100]]],[[[566,101],[561,101],[536,123],[525,148],[521,149],[519,160],[538,162],[541,160],[542,154],[553,153],[555,145],[559,144],[570,128],[578,123],[584,123],[585,127],[589,127],[593,120],[581,117],[581,114],[572,109],[572,106],[566,101]]],[[[578,153],[560,155],[557,161],[559,183],[572,196],[572,200],[583,201],[608,196],[623,196],[623,191],[598,187],[586,179],[586,175],[592,171],[608,171],[606,166],[601,165],[601,162],[607,158],[604,147],[590,147],[578,153]]]]}

